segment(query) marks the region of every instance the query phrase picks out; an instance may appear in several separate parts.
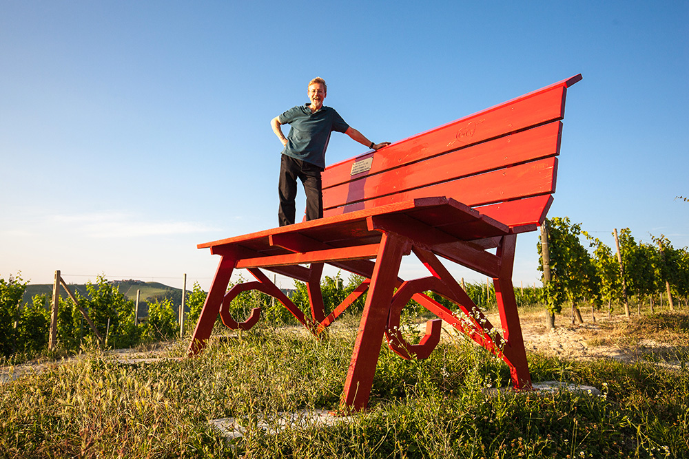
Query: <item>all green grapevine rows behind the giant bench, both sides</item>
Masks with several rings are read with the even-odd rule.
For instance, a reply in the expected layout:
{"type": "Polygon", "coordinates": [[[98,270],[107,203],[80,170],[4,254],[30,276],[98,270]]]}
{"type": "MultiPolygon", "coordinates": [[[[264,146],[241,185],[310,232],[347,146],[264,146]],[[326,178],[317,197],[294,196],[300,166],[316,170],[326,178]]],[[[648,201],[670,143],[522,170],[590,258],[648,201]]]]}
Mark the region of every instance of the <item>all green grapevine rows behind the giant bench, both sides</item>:
{"type": "MultiPolygon", "coordinates": [[[[572,310],[573,321],[583,321],[582,310],[592,319],[596,314],[612,314],[624,310],[630,315],[635,306],[637,314],[646,304],[650,312],[666,308],[686,308],[689,295],[689,251],[674,248],[670,240],[661,235],[652,237],[652,244],[636,242],[628,228],[619,232],[619,257],[612,248],[574,224],[568,218],[555,217],[544,224],[547,237],[547,256],[544,244],[537,244],[539,270],[542,271],[543,287],[517,288],[518,306],[543,306],[550,312],[550,325],[556,313],[564,305],[572,310]],[[586,247],[588,246],[588,248],[586,247]],[[544,263],[544,260],[546,262],[544,263]],[[677,305],[675,303],[677,302],[677,305]],[[632,306],[630,306],[632,305],[632,306]]],[[[322,292],[326,305],[337,305],[349,295],[362,279],[351,275],[343,279],[341,274],[322,280],[322,292]]],[[[238,284],[243,279],[238,280],[238,284]]],[[[230,288],[232,287],[231,284],[230,288]]],[[[22,302],[27,284],[19,275],[0,278],[0,353],[12,361],[28,359],[45,350],[48,344],[50,324],[50,296],[34,295],[31,301],[22,302]]],[[[495,306],[495,290],[491,284],[467,283],[464,288],[474,303],[484,310],[495,306]]],[[[179,330],[179,316],[169,295],[156,297],[148,304],[148,316],[135,323],[134,301],[99,276],[96,284],[89,283],[85,292],[76,292],[79,306],[86,310],[100,330],[108,348],[130,348],[141,343],[172,339],[179,330]]],[[[205,292],[198,284],[188,292],[185,330],[192,330],[205,292]]],[[[431,294],[436,301],[453,308],[448,300],[431,294]]],[[[308,309],[306,284],[296,281],[291,299],[302,310],[308,309]]],[[[355,311],[363,308],[364,297],[354,305],[355,311]]],[[[263,320],[274,325],[295,325],[294,317],[271,297],[256,290],[244,292],[233,301],[234,317],[246,317],[252,308],[260,306],[263,320]]],[[[59,299],[57,334],[61,352],[78,352],[85,341],[93,340],[93,331],[85,323],[76,303],[69,298],[59,299]]],[[[407,320],[424,314],[418,303],[404,308],[407,320]]],[[[184,334],[184,333],[183,333],[184,334]]]]}

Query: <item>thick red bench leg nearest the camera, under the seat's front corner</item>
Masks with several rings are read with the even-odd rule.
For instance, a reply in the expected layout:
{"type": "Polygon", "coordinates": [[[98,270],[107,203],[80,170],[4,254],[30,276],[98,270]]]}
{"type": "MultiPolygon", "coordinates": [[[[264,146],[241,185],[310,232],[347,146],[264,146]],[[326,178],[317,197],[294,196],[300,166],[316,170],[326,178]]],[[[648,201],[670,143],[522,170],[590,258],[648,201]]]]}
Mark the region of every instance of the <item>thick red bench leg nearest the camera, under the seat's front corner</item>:
{"type": "Polygon", "coordinates": [[[410,250],[409,239],[383,233],[340,400],[345,409],[362,411],[369,403],[400,263],[410,250]]]}

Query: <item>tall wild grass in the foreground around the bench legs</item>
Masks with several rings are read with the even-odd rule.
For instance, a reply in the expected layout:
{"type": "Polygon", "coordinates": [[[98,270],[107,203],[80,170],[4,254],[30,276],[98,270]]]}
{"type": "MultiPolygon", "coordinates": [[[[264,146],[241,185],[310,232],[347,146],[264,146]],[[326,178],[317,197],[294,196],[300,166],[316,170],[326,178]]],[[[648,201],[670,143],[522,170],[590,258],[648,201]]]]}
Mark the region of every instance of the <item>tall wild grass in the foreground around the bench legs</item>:
{"type": "Polygon", "coordinates": [[[515,394],[504,364],[467,341],[425,361],[382,349],[369,412],[331,427],[267,435],[261,419],[338,407],[355,331],[317,341],[255,328],[194,359],[122,363],[92,348],[75,363],[0,386],[3,457],[685,458],[689,370],[653,363],[573,362],[533,354],[534,381],[601,394],[515,394]],[[228,442],[209,427],[235,417],[228,442]]]}

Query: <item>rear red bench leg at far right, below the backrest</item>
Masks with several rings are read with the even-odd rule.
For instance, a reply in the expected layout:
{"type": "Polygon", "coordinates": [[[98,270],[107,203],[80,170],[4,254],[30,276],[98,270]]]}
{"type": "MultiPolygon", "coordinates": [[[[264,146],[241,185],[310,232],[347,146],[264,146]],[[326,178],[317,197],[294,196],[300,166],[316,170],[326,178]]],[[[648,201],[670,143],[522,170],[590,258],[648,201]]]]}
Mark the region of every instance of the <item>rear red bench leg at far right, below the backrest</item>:
{"type": "Polygon", "coordinates": [[[531,374],[528,372],[526,350],[524,350],[524,338],[522,326],[517,313],[517,300],[512,285],[512,269],[515,258],[515,246],[517,235],[504,236],[500,246],[497,247],[497,256],[500,257],[500,277],[493,278],[495,286],[495,299],[500,310],[503,338],[507,341],[509,351],[506,356],[511,363],[510,373],[515,389],[531,389],[531,374]]]}

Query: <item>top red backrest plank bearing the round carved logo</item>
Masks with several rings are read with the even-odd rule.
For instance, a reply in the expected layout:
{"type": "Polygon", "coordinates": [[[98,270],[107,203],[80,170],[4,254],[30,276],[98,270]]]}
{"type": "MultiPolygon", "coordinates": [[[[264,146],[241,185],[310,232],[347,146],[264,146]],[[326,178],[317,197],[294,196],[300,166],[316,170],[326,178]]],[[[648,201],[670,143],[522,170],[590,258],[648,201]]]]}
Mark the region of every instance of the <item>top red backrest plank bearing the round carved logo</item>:
{"type": "MultiPolygon", "coordinates": [[[[374,154],[371,169],[365,175],[373,175],[445,151],[468,147],[546,122],[560,120],[564,116],[564,96],[564,87],[553,87],[546,92],[523,96],[395,142],[374,154]]],[[[351,165],[363,157],[359,156],[328,167],[322,175],[323,189],[351,180],[351,165]]]]}

